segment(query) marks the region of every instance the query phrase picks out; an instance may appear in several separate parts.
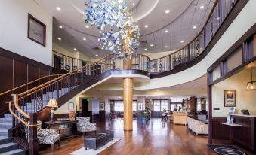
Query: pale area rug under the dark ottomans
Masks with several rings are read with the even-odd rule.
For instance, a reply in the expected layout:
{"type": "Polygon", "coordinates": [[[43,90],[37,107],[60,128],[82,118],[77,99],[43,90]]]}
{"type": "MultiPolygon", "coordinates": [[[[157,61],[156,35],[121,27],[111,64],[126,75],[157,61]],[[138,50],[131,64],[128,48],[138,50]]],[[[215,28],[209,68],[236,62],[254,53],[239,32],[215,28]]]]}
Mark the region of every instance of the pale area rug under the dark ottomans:
{"type": "Polygon", "coordinates": [[[97,153],[102,152],[105,150],[107,147],[110,147],[111,145],[115,144],[117,141],[120,141],[120,138],[114,138],[113,141],[109,141],[106,145],[103,147],[100,147],[97,150],[90,149],[90,150],[85,150],[85,147],[80,148],[79,150],[76,150],[75,152],[70,153],[71,155],[96,155],[97,153]]]}

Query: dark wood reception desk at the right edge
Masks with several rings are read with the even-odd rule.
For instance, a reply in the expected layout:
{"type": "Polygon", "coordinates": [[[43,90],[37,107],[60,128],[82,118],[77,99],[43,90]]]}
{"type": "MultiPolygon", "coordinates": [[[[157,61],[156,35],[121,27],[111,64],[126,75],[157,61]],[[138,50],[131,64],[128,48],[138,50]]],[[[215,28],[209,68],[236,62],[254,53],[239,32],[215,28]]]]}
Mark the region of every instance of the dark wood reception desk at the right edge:
{"type": "Polygon", "coordinates": [[[234,123],[222,123],[230,128],[230,141],[240,144],[251,150],[255,147],[255,115],[231,114],[234,117],[234,123]]]}

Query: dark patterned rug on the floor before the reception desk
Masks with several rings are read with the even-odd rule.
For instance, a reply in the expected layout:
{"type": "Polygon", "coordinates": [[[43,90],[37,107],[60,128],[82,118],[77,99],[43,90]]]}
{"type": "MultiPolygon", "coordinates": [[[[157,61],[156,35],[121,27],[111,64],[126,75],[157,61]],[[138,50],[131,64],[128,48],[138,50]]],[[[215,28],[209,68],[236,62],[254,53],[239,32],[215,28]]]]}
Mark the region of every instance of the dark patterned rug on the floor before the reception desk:
{"type": "Polygon", "coordinates": [[[242,150],[233,146],[208,144],[208,147],[214,150],[218,155],[246,155],[242,150]]]}

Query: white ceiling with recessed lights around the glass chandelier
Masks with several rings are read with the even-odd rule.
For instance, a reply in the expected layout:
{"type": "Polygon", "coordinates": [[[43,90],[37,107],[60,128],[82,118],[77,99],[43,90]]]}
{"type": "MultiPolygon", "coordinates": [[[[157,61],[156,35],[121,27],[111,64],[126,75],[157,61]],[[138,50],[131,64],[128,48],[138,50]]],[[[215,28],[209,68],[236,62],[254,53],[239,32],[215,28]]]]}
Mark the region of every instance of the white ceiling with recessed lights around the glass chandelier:
{"type": "MultiPolygon", "coordinates": [[[[83,11],[86,0],[34,0],[54,16],[53,41],[66,50],[74,47],[91,59],[105,56],[100,49],[95,27],[85,28],[83,11]],[[57,11],[60,7],[61,11],[57,11]],[[60,29],[58,26],[63,26],[60,29]],[[62,38],[58,41],[57,38],[62,38]],[[83,40],[86,38],[86,41],[83,40]],[[96,57],[95,55],[99,55],[96,57]]],[[[140,26],[138,53],[177,50],[202,29],[214,0],[128,0],[129,9],[140,26]],[[133,5],[134,4],[134,5],[133,5]],[[200,9],[200,6],[204,8],[200,9]],[[170,10],[165,14],[165,10],[170,10]],[[145,25],[148,28],[145,28],[145,25]],[[196,26],[196,29],[193,29],[196,26]],[[168,30],[165,33],[165,30],[168,30]],[[184,41],[184,43],[180,43],[184,41]],[[150,46],[153,44],[153,47],[150,46]],[[168,46],[165,48],[165,46],[168,46]],[[147,50],[144,50],[147,48],[147,50]]]]}

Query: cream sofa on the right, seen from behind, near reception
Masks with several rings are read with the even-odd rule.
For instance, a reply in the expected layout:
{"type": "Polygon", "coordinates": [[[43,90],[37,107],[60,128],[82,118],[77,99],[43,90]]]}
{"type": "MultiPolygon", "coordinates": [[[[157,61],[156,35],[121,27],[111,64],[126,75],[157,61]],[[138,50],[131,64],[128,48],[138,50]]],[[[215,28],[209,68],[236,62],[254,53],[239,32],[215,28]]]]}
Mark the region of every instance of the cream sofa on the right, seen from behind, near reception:
{"type": "Polygon", "coordinates": [[[187,117],[187,123],[188,123],[188,128],[195,132],[196,135],[203,134],[207,135],[208,134],[208,125],[202,123],[199,120],[195,120],[193,118],[187,117]]]}

